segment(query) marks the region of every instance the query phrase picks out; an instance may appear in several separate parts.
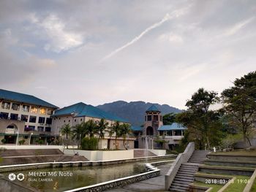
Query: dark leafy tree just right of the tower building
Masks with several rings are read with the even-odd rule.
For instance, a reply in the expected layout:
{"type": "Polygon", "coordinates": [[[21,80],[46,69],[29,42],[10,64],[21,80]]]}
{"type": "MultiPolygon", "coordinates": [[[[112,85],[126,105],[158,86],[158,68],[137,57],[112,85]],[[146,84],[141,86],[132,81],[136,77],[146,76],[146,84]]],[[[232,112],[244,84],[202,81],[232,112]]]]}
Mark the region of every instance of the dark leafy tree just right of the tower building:
{"type": "Polygon", "coordinates": [[[222,123],[219,122],[221,113],[209,110],[211,104],[216,104],[218,101],[216,92],[199,88],[187,101],[187,111],[181,112],[176,118],[178,123],[187,126],[189,132],[197,133],[195,137],[202,138],[203,141],[200,139],[199,142],[206,142],[208,148],[220,139],[215,136],[220,134],[222,128],[222,123]]]}

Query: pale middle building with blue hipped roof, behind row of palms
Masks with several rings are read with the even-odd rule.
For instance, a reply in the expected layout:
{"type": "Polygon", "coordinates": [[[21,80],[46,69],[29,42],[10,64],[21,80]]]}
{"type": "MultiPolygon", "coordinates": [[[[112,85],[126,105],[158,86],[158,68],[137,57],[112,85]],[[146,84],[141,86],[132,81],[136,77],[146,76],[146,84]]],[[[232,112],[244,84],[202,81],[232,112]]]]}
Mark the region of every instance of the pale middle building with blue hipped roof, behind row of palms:
{"type": "MultiPolygon", "coordinates": [[[[61,132],[61,127],[65,124],[74,127],[88,120],[99,121],[105,119],[108,122],[109,127],[116,121],[119,123],[129,123],[127,120],[118,118],[116,115],[112,115],[109,112],[99,110],[97,107],[82,102],[56,110],[52,117],[55,131],[54,134],[59,134],[61,132]]],[[[129,146],[129,148],[133,148],[134,140],[135,138],[127,138],[125,145],[127,145],[127,147],[129,146]]],[[[113,134],[112,137],[109,137],[108,131],[105,131],[105,139],[100,139],[98,145],[99,149],[114,149],[116,147],[115,134],[113,134]]],[[[124,149],[123,138],[120,137],[117,139],[117,146],[118,149],[124,149]]]]}

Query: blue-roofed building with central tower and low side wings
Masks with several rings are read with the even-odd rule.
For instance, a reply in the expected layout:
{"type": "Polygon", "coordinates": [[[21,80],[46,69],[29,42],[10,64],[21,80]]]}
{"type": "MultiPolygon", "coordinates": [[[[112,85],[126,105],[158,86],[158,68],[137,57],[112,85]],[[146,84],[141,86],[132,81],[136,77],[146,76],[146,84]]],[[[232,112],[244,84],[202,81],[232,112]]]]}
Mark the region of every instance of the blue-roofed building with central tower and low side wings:
{"type": "Polygon", "coordinates": [[[166,141],[165,148],[172,148],[173,145],[178,145],[183,138],[184,129],[186,128],[178,123],[163,125],[161,112],[155,105],[152,105],[146,110],[143,127],[132,126],[137,138],[135,147],[146,148],[147,143],[149,148],[159,148],[154,140],[164,139],[166,141]]]}

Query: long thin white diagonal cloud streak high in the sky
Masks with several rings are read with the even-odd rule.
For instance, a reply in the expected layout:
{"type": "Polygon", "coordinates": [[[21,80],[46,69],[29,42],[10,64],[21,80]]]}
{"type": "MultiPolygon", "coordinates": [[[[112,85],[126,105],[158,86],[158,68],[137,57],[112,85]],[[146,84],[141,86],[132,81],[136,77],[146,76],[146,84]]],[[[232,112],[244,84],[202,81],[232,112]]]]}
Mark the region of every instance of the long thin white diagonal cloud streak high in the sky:
{"type": "Polygon", "coordinates": [[[108,58],[112,57],[113,55],[116,55],[116,53],[120,52],[121,50],[124,50],[126,47],[129,47],[130,45],[134,44],[135,42],[138,42],[138,40],[140,40],[145,34],[147,34],[149,31],[153,30],[154,28],[162,26],[162,24],[165,23],[167,20],[170,20],[172,18],[178,18],[179,16],[184,15],[184,13],[187,11],[187,9],[189,7],[185,7],[183,9],[178,9],[176,11],[173,11],[171,14],[167,13],[165,15],[165,17],[162,18],[162,20],[160,20],[159,22],[154,23],[152,26],[149,26],[148,28],[146,28],[140,35],[138,35],[137,37],[132,39],[132,41],[127,42],[127,44],[125,44],[121,47],[118,47],[116,50],[111,52],[109,55],[102,58],[101,61],[104,61],[105,59],[108,59],[108,58]]]}

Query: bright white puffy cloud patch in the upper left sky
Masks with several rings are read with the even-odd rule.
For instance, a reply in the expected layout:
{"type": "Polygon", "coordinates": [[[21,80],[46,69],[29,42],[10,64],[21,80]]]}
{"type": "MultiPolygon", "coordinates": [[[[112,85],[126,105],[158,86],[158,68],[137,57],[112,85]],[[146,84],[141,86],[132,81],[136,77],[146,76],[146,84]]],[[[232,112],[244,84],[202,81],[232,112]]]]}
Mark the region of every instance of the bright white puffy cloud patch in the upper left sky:
{"type": "Polygon", "coordinates": [[[41,21],[35,15],[31,15],[31,23],[36,24],[39,30],[42,30],[40,32],[45,32],[48,37],[45,50],[60,53],[83,45],[83,35],[68,31],[65,23],[56,15],[48,15],[41,21]]]}

